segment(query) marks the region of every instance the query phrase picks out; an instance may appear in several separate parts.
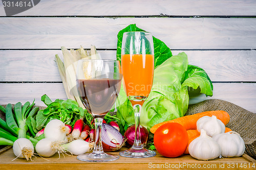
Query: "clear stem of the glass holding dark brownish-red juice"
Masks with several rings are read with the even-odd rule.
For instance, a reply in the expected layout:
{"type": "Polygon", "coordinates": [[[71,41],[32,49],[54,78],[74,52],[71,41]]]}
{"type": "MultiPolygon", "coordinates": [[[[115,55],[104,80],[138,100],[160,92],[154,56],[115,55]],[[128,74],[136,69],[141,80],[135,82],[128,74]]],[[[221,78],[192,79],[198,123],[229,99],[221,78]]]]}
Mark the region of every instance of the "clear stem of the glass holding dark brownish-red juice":
{"type": "Polygon", "coordinates": [[[101,127],[102,127],[102,118],[95,118],[95,138],[94,138],[94,149],[93,154],[102,154],[103,148],[102,148],[102,142],[101,142],[101,127]]]}

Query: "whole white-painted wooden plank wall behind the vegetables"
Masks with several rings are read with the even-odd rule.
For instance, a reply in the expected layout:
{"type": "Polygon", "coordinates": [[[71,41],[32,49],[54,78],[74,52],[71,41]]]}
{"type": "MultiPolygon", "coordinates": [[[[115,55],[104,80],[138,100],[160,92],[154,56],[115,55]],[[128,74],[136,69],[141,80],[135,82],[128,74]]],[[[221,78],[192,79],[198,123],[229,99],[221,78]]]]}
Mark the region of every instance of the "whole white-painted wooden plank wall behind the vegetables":
{"type": "Polygon", "coordinates": [[[115,59],[117,33],[136,25],[189,64],[205,69],[214,95],[190,103],[222,99],[256,113],[256,1],[40,1],[7,17],[0,3],[0,104],[42,94],[66,99],[55,54],[60,47],[90,48],[115,59]]]}

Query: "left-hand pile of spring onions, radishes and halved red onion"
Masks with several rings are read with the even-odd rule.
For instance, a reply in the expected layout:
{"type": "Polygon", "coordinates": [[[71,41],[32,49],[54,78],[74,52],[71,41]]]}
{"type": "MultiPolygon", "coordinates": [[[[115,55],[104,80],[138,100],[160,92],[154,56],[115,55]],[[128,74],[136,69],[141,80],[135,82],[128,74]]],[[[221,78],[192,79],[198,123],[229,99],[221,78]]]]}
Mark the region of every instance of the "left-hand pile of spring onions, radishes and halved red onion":
{"type": "MultiPolygon", "coordinates": [[[[55,153],[80,155],[90,151],[94,142],[93,116],[73,100],[52,102],[45,94],[47,105],[39,110],[35,104],[19,102],[0,106],[6,120],[0,118],[0,145],[12,145],[17,158],[32,159],[34,152],[42,157],[55,153]],[[38,111],[39,110],[39,111],[38,111]]],[[[102,125],[102,145],[105,152],[119,150],[125,140],[116,122],[102,125]]]]}

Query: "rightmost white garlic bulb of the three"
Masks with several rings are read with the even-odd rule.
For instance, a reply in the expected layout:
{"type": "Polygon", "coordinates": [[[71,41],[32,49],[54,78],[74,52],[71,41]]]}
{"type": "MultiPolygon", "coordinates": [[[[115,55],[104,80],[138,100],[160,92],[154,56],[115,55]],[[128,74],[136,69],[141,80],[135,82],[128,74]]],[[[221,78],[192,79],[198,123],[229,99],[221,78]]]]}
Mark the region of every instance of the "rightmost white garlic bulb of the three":
{"type": "Polygon", "coordinates": [[[221,156],[239,157],[244,154],[245,144],[237,132],[227,132],[215,135],[214,138],[221,147],[221,156]]]}

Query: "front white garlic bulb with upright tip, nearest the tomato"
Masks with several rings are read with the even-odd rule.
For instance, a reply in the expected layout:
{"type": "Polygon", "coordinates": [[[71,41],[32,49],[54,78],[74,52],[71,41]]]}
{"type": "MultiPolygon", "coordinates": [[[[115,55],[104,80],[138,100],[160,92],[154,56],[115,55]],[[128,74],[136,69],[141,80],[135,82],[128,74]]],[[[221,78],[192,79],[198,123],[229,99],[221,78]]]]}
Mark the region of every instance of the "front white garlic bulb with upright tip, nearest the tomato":
{"type": "Polygon", "coordinates": [[[196,159],[211,160],[221,155],[221,148],[219,144],[202,129],[200,136],[189,144],[188,152],[196,159]]]}

